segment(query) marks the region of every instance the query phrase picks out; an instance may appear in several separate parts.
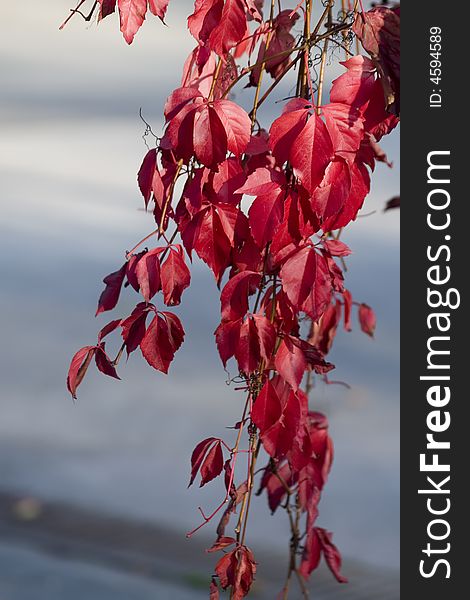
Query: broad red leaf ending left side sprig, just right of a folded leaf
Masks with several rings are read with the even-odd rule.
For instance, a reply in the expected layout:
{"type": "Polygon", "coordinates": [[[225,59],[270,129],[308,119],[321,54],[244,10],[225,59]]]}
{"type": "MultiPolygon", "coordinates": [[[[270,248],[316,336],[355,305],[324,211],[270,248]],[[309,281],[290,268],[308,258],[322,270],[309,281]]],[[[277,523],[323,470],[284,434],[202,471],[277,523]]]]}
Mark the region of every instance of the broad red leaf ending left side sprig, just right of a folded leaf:
{"type": "Polygon", "coordinates": [[[180,320],[172,313],[155,315],[140,342],[140,349],[151,367],[162,373],[168,373],[170,364],[184,339],[184,330],[180,320]]]}

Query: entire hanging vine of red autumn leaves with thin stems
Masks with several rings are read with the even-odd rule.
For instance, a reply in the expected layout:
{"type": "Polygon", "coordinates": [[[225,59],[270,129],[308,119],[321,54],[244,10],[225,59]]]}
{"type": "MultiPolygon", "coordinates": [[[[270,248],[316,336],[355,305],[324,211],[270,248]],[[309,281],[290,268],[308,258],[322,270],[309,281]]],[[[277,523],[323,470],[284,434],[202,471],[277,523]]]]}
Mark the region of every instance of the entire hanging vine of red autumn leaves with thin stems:
{"type": "MultiPolygon", "coordinates": [[[[117,12],[130,44],[146,18],[165,19],[168,4],[99,0],[86,18],[117,12]]],[[[97,315],[113,310],[124,288],[137,296],[136,306],[75,354],[67,378],[75,398],[93,361],[118,378],[122,354],[137,350],[167,373],[185,337],[173,307],[184,301],[195,255],[206,263],[221,290],[215,343],[224,366],[234,361],[244,394],[231,439],[208,437],[191,457],[190,485],[219,477],[225,485],[219,505],[209,515],[201,510],[202,523],[188,534],[218,519],[209,549],[220,553],[212,599],[226,589],[244,598],[255,579],[246,545],[255,485],[291,526],[280,597],[287,598],[293,575],[306,597],[322,557],[346,581],[332,534],[317,524],[333,443],[310,396],[314,378],[329,381],[328,354],[338,329],[352,329],[353,312],[366,334],[375,330],[373,310],[345,287],[351,250],[340,234],[356,219],[377,161],[387,163],[378,142],[398,123],[400,9],[366,12],[357,1],[338,7],[327,0],[321,10],[311,0],[282,4],[195,1],[188,18],[195,48],[164,106],[163,135],[137,177],[155,228],[104,278],[97,315]],[[345,60],[327,101],[325,70],[339,53],[345,60]],[[291,97],[262,125],[258,109],[293,73],[291,97]],[[232,99],[238,84],[254,90],[249,113],[232,99]],[[122,337],[115,358],[105,346],[112,334],[122,337]]]]}

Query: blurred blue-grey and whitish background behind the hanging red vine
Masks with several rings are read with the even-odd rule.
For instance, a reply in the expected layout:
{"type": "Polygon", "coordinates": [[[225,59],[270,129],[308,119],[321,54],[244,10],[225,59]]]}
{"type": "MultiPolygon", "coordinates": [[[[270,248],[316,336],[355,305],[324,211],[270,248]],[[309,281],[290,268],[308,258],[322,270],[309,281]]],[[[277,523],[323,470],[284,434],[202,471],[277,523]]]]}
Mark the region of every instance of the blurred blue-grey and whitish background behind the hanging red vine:
{"type": "MultiPolygon", "coordinates": [[[[187,337],[169,376],[136,353],[121,382],[90,369],[76,403],[65,388],[72,354],[109,320],[93,317],[102,277],[152,227],[136,185],[146,151],[139,108],[160,133],[193,47],[192,2],[173,0],[168,26],[148,19],[131,47],[115,16],[99,26],[76,17],[60,32],[73,3],[2,6],[0,597],[203,598],[214,556],[201,549],[213,529],[184,534],[199,523],[198,505],[213,506],[218,484],[187,490],[189,456],[204,437],[224,435],[241,402],[213,340],[219,304],[208,269],[194,264],[177,311],[187,337]]],[[[339,72],[332,66],[330,80],[339,72]]],[[[248,106],[252,94],[237,101],[248,106]]],[[[273,99],[288,94],[280,86],[273,99]]],[[[398,597],[399,214],[383,212],[399,192],[397,132],[383,147],[394,168],[378,165],[369,216],[343,238],[354,252],[347,286],[374,307],[376,337],[357,323],[340,332],[334,379],[351,389],[320,384],[313,397],[336,448],[319,525],[334,532],[351,580],[314,574],[318,599],[398,597]]],[[[117,316],[133,307],[124,298],[117,316]]],[[[265,497],[254,503],[250,537],[261,563],[254,597],[274,598],[288,527],[265,497]]]]}

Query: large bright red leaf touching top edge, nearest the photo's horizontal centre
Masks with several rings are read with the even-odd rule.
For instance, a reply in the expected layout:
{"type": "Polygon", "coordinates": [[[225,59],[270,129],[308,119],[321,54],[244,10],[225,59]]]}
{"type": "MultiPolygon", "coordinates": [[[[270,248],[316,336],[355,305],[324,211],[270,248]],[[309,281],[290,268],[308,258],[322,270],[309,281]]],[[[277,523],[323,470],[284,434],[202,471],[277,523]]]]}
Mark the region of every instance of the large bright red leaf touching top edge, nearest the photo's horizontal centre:
{"type": "Polygon", "coordinates": [[[246,32],[246,14],[243,0],[225,0],[217,26],[209,35],[209,44],[219,56],[228,54],[246,32]]]}

